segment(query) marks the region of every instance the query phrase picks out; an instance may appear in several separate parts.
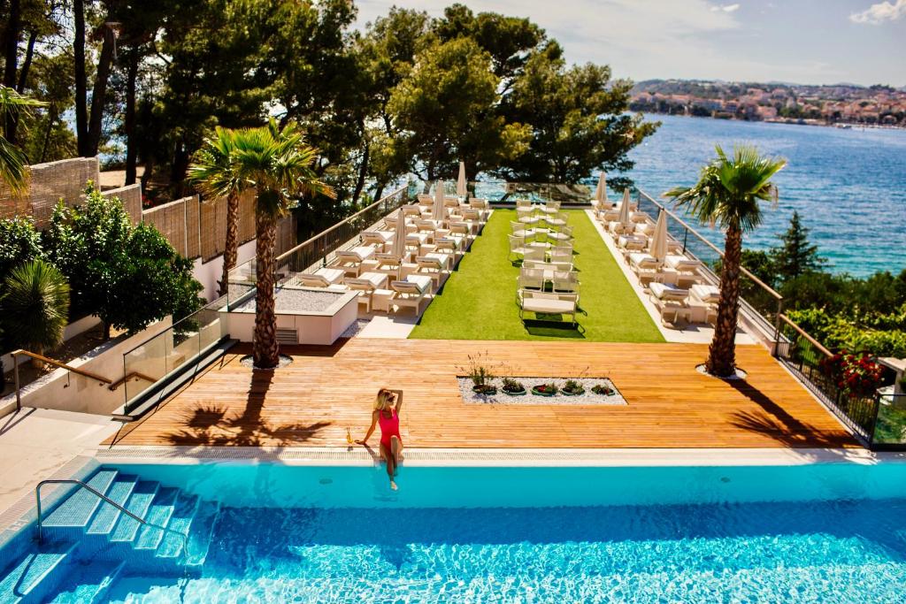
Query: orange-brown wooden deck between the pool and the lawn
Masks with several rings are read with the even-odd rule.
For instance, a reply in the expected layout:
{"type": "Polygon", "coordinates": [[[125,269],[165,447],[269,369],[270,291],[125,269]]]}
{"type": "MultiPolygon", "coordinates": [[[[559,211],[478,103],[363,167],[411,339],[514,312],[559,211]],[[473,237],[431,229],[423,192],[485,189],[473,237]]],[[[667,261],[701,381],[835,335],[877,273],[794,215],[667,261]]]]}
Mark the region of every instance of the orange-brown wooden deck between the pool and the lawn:
{"type": "MultiPolygon", "coordinates": [[[[284,347],[287,368],[253,371],[231,350],[117,445],[345,446],[377,388],[403,388],[402,436],[419,447],[853,447],[843,427],[757,346],[737,347],[745,383],[700,375],[698,344],[341,340],[284,347]],[[467,404],[456,376],[484,352],[524,376],[609,377],[616,406],[467,404]]],[[[378,436],[372,437],[376,445],[378,436]]]]}

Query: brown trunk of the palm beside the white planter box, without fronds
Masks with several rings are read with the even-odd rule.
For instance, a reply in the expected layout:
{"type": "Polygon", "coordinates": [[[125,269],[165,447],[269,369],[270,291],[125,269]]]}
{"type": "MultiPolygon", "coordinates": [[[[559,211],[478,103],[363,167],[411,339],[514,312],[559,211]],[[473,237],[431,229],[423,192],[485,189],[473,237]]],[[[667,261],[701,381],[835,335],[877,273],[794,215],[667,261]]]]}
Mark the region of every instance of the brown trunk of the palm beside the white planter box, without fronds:
{"type": "Polygon", "coordinates": [[[265,212],[255,213],[255,367],[272,369],[280,360],[275,313],[275,241],[277,221],[265,212]]]}

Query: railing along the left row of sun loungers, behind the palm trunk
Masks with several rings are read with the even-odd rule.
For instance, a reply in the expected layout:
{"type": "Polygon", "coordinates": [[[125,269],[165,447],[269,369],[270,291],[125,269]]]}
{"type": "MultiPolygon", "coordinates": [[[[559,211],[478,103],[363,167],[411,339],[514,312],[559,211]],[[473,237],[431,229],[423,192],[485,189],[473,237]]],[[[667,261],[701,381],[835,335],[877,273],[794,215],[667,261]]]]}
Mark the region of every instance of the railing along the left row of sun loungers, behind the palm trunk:
{"type": "MultiPolygon", "coordinates": [[[[361,231],[376,225],[384,216],[410,203],[412,184],[400,187],[378,201],[342,219],[337,224],[309,237],[293,249],[287,250],[275,259],[276,286],[290,283],[298,273],[304,273],[316,265],[326,265],[332,254],[339,249],[352,247],[361,241],[361,231]]],[[[238,264],[229,272],[226,290],[226,304],[233,308],[237,303],[248,300],[255,291],[257,278],[255,258],[238,264]]]]}

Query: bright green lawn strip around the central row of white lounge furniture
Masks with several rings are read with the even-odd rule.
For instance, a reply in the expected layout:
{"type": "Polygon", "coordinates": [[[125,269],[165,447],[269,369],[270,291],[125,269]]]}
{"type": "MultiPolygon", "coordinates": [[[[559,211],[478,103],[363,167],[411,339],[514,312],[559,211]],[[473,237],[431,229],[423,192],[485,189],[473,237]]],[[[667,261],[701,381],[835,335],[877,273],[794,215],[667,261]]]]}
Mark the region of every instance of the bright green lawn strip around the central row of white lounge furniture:
{"type": "MultiPolygon", "coordinates": [[[[569,212],[574,263],[582,282],[580,329],[521,321],[516,306],[519,268],[507,259],[513,210],[496,210],[410,338],[432,340],[588,340],[662,342],[594,225],[581,210],[569,212]]],[[[529,314],[528,316],[532,316],[529,314]]]]}

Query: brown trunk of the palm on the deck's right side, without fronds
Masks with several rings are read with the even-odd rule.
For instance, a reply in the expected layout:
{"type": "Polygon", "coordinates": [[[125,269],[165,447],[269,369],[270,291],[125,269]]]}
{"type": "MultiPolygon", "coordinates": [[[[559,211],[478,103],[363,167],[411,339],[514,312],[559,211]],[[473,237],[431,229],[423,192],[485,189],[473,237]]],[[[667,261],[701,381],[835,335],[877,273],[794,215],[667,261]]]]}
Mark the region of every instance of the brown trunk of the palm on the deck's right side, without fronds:
{"type": "Polygon", "coordinates": [[[720,377],[736,371],[736,331],[739,314],[739,266],[742,262],[742,230],[738,225],[727,229],[724,259],[720,271],[720,300],[714,339],[708,349],[708,373],[720,377]]]}

